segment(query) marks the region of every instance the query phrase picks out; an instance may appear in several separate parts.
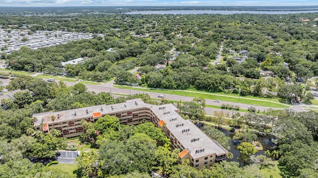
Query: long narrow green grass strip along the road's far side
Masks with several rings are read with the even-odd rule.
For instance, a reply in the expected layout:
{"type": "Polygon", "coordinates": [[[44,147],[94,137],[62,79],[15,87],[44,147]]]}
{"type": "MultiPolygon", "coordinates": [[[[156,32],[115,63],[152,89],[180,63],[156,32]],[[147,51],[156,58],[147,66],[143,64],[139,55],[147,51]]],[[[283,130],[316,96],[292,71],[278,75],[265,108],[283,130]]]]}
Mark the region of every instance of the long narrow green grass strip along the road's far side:
{"type": "MultiPolygon", "coordinates": [[[[178,90],[152,90],[148,88],[137,88],[137,87],[128,87],[128,86],[122,86],[122,85],[113,85],[116,88],[123,88],[123,89],[131,89],[131,90],[138,90],[138,91],[148,91],[148,92],[155,92],[155,93],[166,93],[166,94],[172,94],[172,95],[179,95],[179,96],[188,96],[188,97],[203,97],[205,99],[210,100],[221,100],[221,101],[227,101],[227,102],[233,102],[233,103],[242,103],[242,104],[248,104],[248,105],[254,105],[254,106],[264,106],[264,107],[271,107],[271,108],[288,108],[289,106],[286,106],[284,104],[279,103],[273,103],[273,101],[270,101],[272,99],[262,98],[263,101],[258,100],[252,100],[246,97],[234,97],[234,96],[219,96],[214,93],[207,93],[207,92],[201,92],[200,93],[194,93],[189,91],[178,91],[178,90]]],[[[256,97],[255,97],[256,98],[256,97]]]]}

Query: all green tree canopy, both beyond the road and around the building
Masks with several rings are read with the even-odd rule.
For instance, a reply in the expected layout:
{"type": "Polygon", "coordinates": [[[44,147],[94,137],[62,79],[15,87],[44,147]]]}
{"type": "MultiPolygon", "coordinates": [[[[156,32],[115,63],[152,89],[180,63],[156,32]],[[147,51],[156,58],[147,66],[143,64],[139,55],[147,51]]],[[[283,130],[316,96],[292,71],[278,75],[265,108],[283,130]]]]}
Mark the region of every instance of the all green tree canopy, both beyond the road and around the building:
{"type": "MultiPolygon", "coordinates": [[[[116,77],[116,83],[138,83],[150,88],[198,89],[242,96],[277,95],[290,102],[298,97],[306,98],[303,86],[297,81],[310,85],[307,79],[318,75],[317,17],[318,13],[2,14],[0,25],[6,31],[24,29],[30,35],[39,30],[68,31],[96,36],[37,50],[22,47],[11,54],[1,53],[1,59],[13,70],[60,74],[61,62],[81,57],[84,62],[65,66],[68,76],[92,81],[116,77]],[[214,65],[220,49],[223,49],[223,62],[214,65]],[[239,63],[235,57],[246,59],[239,63]],[[164,67],[158,69],[158,64],[164,67]],[[137,66],[141,78],[127,71],[137,66]],[[272,77],[262,77],[261,70],[270,71],[272,77]]],[[[46,135],[34,130],[32,115],[35,113],[121,103],[133,98],[153,104],[168,102],[153,101],[148,95],[114,99],[110,93],[88,92],[83,84],[67,87],[63,82],[48,83],[31,76],[18,76],[6,88],[26,91],[14,94],[14,100],[1,101],[6,105],[6,111],[0,111],[1,178],[75,177],[26,159],[53,157],[57,150],[66,147],[66,140],[58,137],[59,130],[52,129],[46,135]]],[[[201,106],[195,101],[178,103],[180,115],[185,119],[214,119],[220,125],[225,123],[225,116],[206,118],[201,106]]],[[[239,159],[246,165],[240,167],[238,163],[223,161],[212,169],[202,170],[191,167],[187,160],[178,164],[179,150],[171,150],[165,135],[151,123],[120,125],[114,117],[101,118],[94,124],[82,121],[86,132],[80,136],[81,143],[99,151],[83,153],[76,159],[76,175],[148,178],[152,172],[159,172],[170,178],[264,178],[260,169],[278,160],[283,178],[316,178],[317,119],[315,112],[266,111],[265,115],[235,115],[229,122],[243,129],[236,137],[242,142],[239,159]],[[265,129],[266,134],[276,138],[275,146],[267,157],[253,157],[255,151],[249,149],[251,141],[265,129]]],[[[229,139],[223,132],[211,126],[202,130],[225,148],[229,147],[229,139]]]]}

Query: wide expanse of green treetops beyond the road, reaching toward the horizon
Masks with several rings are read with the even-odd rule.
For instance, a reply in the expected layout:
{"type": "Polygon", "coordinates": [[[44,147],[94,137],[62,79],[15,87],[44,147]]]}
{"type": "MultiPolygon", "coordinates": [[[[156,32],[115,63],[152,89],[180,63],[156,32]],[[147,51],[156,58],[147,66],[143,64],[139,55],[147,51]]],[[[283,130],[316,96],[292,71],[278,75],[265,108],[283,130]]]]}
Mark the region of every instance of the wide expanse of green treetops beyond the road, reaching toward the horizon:
{"type": "Polygon", "coordinates": [[[10,55],[2,53],[1,58],[15,70],[61,73],[61,62],[82,57],[84,62],[65,66],[68,76],[93,81],[116,77],[117,83],[150,88],[278,95],[290,102],[290,90],[296,98],[302,92],[300,86],[286,86],[285,81],[305,83],[318,75],[316,17],[317,13],[3,16],[1,27],[8,30],[61,30],[104,37],[37,50],[22,47],[10,55]],[[224,62],[213,65],[221,46],[224,62]],[[247,59],[239,63],[236,57],[247,59]],[[158,70],[157,64],[164,69],[158,70]],[[141,66],[141,79],[126,72],[136,66],[141,66]],[[272,77],[262,78],[261,70],[272,77]]]}

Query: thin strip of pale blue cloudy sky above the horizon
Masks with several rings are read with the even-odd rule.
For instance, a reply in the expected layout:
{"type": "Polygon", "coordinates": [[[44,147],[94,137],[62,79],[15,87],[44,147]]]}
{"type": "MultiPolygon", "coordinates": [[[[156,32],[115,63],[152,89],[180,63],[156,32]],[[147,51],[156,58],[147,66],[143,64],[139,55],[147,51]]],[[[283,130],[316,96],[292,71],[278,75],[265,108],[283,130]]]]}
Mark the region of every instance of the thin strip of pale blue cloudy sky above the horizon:
{"type": "Polygon", "coordinates": [[[133,5],[318,5],[317,0],[0,0],[0,6],[133,6],[133,5]]]}

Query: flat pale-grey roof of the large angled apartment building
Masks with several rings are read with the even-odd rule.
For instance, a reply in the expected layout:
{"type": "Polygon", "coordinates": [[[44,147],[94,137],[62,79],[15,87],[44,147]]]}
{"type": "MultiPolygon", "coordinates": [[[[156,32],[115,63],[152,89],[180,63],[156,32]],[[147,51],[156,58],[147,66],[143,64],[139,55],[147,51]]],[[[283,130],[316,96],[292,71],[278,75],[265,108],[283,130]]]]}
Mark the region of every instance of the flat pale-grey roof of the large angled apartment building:
{"type": "Polygon", "coordinates": [[[110,113],[121,113],[125,110],[140,108],[151,109],[159,120],[163,120],[166,123],[165,126],[170,130],[170,134],[177,138],[185,149],[188,148],[190,150],[190,154],[194,159],[214,153],[217,155],[228,153],[225,148],[223,148],[215,140],[208,137],[200,128],[192,123],[191,120],[183,119],[177,113],[178,109],[173,104],[151,105],[144,103],[141,99],[127,100],[125,103],[113,105],[98,105],[60,112],[34,114],[33,117],[37,118],[34,126],[39,126],[42,119],[44,123],[53,123],[51,119],[52,116],[56,117],[55,122],[60,122],[74,119],[85,119],[88,117],[93,118],[93,113],[98,112],[100,112],[101,115],[107,115],[110,113]],[[58,115],[60,116],[60,119],[58,119],[58,115]],[[196,153],[196,150],[200,149],[204,149],[204,151],[196,153]]]}

